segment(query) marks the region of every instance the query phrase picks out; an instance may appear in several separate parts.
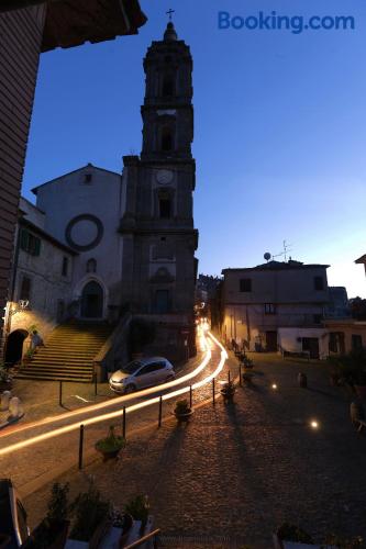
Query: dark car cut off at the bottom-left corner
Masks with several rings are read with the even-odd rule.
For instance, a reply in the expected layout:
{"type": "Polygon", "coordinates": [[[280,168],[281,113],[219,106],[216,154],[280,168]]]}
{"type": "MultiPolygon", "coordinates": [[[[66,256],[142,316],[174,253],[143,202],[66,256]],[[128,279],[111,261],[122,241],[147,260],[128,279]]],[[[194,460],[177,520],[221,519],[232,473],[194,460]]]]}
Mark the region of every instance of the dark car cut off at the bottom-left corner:
{"type": "Polygon", "coordinates": [[[21,547],[30,537],[26,513],[10,479],[0,479],[0,544],[21,547]]]}

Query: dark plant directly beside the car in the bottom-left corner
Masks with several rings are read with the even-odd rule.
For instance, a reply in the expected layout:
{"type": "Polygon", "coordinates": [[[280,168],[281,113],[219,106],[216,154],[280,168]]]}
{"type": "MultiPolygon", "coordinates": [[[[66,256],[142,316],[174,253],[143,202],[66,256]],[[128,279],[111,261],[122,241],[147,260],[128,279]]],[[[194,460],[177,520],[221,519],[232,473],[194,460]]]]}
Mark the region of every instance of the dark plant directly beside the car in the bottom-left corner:
{"type": "Polygon", "coordinates": [[[32,549],[63,549],[69,528],[68,484],[56,482],[52,488],[46,517],[32,531],[26,547],[32,549]]]}

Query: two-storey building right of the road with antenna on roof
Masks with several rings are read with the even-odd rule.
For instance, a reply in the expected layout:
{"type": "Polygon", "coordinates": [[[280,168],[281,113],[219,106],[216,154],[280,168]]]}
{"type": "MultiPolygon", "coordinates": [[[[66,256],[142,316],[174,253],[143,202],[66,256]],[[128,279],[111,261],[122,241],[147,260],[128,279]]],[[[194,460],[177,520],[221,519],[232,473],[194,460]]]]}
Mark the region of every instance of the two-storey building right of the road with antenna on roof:
{"type": "Polygon", "coordinates": [[[325,352],[328,267],[273,260],[254,268],[223,269],[224,339],[235,339],[248,350],[270,351],[285,347],[286,339],[288,350],[325,352]]]}

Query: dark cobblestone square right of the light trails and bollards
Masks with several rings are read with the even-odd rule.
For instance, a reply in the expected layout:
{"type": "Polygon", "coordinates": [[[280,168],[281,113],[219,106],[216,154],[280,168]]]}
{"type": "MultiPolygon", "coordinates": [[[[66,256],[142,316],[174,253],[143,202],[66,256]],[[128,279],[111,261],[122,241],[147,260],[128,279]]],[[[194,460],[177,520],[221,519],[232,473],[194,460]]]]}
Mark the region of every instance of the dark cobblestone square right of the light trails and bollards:
{"type": "MultiPolygon", "coordinates": [[[[269,548],[274,528],[289,520],[317,540],[333,531],[365,537],[366,437],[353,430],[350,396],[330,386],[325,365],[254,358],[254,388],[240,388],[234,404],[220,399],[199,407],[187,427],[168,421],[132,436],[120,460],[108,467],[95,460],[62,480],[76,494],[91,474],[121,508],[148,494],[164,535],[240,536],[269,548]],[[297,384],[300,370],[308,390],[297,384]]],[[[33,523],[49,488],[25,501],[33,523]]]]}

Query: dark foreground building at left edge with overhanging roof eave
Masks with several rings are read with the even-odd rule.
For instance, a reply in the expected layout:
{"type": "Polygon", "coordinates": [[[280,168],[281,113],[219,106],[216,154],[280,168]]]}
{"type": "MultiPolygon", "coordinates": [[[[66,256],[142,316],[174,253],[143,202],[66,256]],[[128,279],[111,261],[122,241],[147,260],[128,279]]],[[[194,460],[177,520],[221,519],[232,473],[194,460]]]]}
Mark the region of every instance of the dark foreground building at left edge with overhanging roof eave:
{"type": "MultiPolygon", "coordinates": [[[[58,46],[74,47],[87,41],[136,34],[145,21],[137,0],[0,2],[1,311],[13,299],[11,261],[40,54],[58,46]]],[[[0,316],[0,357],[7,332],[4,317],[0,316]]]]}

